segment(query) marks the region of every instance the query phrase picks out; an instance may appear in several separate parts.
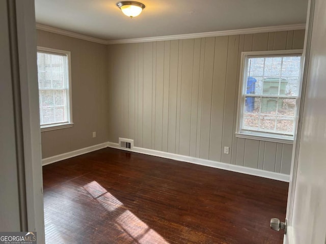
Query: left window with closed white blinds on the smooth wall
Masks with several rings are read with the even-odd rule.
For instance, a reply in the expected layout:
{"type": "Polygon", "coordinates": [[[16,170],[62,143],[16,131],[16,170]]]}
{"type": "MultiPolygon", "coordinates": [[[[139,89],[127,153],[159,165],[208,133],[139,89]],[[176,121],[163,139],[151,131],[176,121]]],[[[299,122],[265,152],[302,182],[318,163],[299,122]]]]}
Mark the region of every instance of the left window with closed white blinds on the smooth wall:
{"type": "Polygon", "coordinates": [[[70,52],[38,47],[37,69],[41,130],[71,127],[70,52]]]}

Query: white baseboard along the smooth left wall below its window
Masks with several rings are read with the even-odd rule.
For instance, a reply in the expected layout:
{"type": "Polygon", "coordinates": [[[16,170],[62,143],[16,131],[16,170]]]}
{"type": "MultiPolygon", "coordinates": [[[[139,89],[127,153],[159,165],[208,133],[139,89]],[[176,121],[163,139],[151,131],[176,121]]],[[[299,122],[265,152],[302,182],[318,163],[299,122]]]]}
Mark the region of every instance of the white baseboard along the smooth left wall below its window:
{"type": "Polygon", "coordinates": [[[87,154],[87,153],[90,153],[91,151],[96,151],[96,150],[104,148],[104,147],[107,147],[107,142],[97,144],[97,145],[94,145],[94,146],[85,147],[85,148],[74,150],[74,151],[69,151],[69,153],[60,154],[60,155],[56,155],[56,156],[53,156],[53,157],[45,158],[45,159],[42,159],[42,166],[52,164],[52,163],[55,163],[55,162],[58,162],[58,161],[61,161],[61,160],[64,160],[64,159],[69,159],[69,158],[72,158],[72,157],[76,157],[76,156],[79,156],[79,155],[82,155],[82,154],[87,154]]]}

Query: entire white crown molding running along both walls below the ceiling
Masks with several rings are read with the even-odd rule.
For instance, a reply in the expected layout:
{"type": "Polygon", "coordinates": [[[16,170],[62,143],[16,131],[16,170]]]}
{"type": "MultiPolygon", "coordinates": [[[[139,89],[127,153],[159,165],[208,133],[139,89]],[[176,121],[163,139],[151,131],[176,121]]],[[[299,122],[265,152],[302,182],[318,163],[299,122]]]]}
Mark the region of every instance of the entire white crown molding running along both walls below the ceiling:
{"type": "Polygon", "coordinates": [[[78,38],[90,42],[96,42],[100,44],[112,45],[112,44],[123,44],[123,43],[140,43],[140,42],[154,42],[154,41],[169,41],[169,40],[181,40],[181,39],[192,39],[202,37],[220,37],[220,36],[232,36],[232,35],[243,35],[243,34],[256,34],[265,32],[282,32],[282,31],[295,31],[297,29],[305,29],[306,24],[289,24],[289,25],[277,25],[267,27],[256,27],[246,29],[232,29],[229,31],[218,31],[218,32],[203,32],[203,33],[192,33],[192,34],[181,34],[171,36],[160,36],[160,37],[145,37],[145,38],[133,38],[133,39],[120,39],[120,40],[103,40],[94,38],[74,32],[65,31],[43,24],[36,24],[36,28],[41,31],[56,33],[68,37],[78,38]]]}

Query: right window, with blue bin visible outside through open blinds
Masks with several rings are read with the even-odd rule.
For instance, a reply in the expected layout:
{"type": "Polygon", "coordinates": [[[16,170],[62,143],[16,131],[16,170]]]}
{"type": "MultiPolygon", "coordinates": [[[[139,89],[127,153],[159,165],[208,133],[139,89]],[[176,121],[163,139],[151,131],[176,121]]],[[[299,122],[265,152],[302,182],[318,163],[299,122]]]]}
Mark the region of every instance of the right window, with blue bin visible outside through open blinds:
{"type": "Polygon", "coordinates": [[[292,143],[301,50],[243,52],[237,137],[292,143]]]}

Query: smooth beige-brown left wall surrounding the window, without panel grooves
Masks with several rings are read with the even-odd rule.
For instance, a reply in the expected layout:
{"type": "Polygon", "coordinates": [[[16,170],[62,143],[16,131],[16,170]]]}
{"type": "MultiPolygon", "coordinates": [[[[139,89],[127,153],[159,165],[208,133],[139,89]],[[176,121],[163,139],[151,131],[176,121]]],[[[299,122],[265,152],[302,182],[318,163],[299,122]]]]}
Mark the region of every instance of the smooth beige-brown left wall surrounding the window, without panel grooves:
{"type": "Polygon", "coordinates": [[[42,132],[43,159],[106,142],[107,46],[39,30],[37,45],[71,52],[74,125],[42,132]]]}

